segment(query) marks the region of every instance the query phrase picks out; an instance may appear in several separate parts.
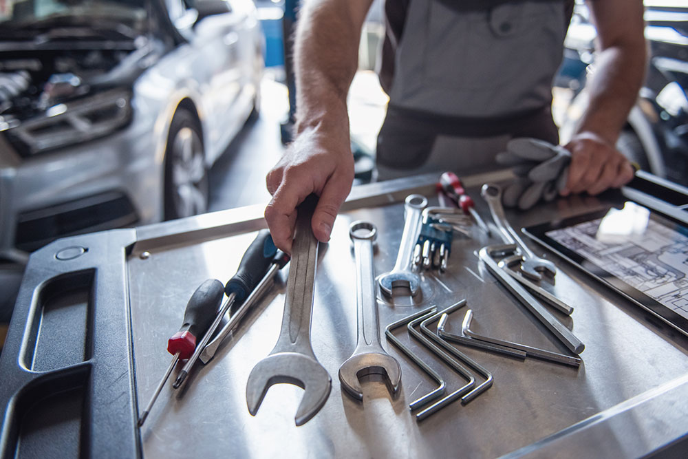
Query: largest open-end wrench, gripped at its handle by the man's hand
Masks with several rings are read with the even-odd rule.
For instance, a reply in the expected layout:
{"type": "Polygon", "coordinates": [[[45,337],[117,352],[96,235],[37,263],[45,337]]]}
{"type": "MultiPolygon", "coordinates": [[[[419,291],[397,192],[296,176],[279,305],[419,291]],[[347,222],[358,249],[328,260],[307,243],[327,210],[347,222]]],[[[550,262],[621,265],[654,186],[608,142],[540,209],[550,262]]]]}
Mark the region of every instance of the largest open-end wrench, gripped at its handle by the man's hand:
{"type": "Polygon", "coordinates": [[[318,241],[310,221],[317,202],[318,198],[310,195],[299,205],[279,338],[270,354],[253,367],[246,383],[246,405],[252,416],[258,412],[271,385],[289,383],[303,388],[303,398],[294,418],[296,425],[307,423],[319,412],[332,388],[332,379],[316,359],[310,344],[318,260],[318,241]]]}

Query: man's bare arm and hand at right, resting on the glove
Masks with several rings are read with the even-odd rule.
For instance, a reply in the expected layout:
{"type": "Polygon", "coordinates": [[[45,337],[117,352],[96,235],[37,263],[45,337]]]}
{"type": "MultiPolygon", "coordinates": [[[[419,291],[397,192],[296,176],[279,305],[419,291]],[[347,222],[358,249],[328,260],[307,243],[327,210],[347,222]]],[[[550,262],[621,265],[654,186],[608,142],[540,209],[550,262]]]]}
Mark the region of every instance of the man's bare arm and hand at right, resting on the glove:
{"type": "Polygon", "coordinates": [[[630,162],[615,145],[645,76],[643,1],[588,0],[587,4],[597,29],[598,54],[588,82],[588,108],[566,145],[572,158],[563,195],[583,191],[596,195],[633,178],[630,162]]]}

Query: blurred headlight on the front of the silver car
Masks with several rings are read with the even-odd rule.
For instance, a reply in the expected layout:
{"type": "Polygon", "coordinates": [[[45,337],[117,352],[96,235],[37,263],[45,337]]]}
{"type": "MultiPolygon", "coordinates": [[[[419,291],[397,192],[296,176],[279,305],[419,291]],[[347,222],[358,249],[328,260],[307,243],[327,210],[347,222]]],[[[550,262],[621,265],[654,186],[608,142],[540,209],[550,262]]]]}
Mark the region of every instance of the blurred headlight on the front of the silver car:
{"type": "Polygon", "coordinates": [[[0,131],[21,156],[33,156],[107,136],[129,122],[131,92],[111,89],[56,104],[28,120],[0,119],[0,131]]]}

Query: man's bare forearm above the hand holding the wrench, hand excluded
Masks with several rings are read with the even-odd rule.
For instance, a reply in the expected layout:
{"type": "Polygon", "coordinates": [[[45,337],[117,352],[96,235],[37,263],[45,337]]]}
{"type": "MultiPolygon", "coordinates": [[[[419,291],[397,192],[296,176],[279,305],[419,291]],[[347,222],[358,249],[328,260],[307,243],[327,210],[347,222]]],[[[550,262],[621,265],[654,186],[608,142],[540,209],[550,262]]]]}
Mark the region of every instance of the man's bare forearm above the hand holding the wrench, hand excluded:
{"type": "Polygon", "coordinates": [[[358,67],[358,42],[369,4],[303,2],[294,42],[297,135],[312,128],[348,145],[347,93],[358,67]]]}

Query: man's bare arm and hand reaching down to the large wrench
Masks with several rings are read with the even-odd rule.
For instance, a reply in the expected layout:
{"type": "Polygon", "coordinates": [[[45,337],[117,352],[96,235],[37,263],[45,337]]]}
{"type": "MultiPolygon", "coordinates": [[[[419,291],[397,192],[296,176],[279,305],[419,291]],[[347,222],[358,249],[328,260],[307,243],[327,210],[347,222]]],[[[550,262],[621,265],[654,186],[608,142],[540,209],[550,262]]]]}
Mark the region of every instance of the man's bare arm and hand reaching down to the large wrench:
{"type": "Polygon", "coordinates": [[[265,218],[275,245],[288,253],[296,207],[306,196],[320,196],[311,224],[315,237],[327,242],[339,207],[351,191],[354,158],[346,99],[371,3],[303,1],[294,41],[295,138],[266,178],[272,200],[265,218]]]}

